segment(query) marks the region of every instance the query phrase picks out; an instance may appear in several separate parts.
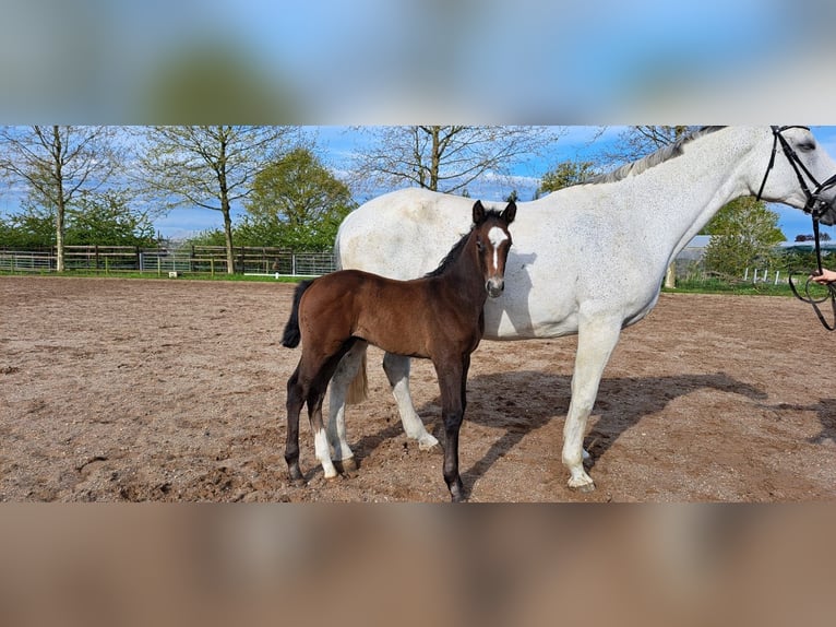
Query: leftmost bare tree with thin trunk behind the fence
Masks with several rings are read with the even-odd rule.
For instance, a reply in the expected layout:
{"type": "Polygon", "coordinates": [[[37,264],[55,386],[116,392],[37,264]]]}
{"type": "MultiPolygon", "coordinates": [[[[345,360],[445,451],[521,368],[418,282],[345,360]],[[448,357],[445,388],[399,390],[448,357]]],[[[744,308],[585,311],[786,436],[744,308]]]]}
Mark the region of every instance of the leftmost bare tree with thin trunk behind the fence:
{"type": "Polygon", "coordinates": [[[120,165],[114,127],[2,127],[0,170],[23,182],[55,216],[57,270],[64,270],[67,211],[75,197],[104,186],[120,165]]]}

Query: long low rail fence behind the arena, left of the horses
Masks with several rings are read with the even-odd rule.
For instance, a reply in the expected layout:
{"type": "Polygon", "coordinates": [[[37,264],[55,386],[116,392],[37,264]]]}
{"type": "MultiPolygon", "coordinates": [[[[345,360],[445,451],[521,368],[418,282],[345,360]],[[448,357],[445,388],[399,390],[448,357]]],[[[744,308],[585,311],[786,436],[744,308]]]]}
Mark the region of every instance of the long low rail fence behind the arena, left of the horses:
{"type": "MultiPolygon", "coordinates": [[[[294,252],[283,248],[236,247],[235,271],[243,274],[278,274],[317,276],[336,270],[331,252],[294,252]]],[[[101,272],[169,272],[215,274],[226,273],[226,248],[223,246],[190,246],[181,248],[140,248],[134,246],[67,246],[67,270],[101,272]]],[[[52,249],[0,249],[0,271],[50,272],[57,268],[52,249]]]]}

